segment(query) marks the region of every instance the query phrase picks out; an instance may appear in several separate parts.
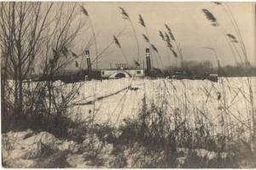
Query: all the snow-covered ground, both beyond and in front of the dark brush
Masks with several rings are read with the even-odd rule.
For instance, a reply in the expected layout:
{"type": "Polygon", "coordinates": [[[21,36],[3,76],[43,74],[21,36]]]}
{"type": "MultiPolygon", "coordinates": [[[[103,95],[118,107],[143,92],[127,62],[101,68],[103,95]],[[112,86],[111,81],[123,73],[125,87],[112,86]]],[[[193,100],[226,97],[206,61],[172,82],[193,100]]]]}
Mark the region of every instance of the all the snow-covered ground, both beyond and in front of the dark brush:
{"type": "MultiPolygon", "coordinates": [[[[250,80],[255,105],[256,77],[252,77],[250,80]]],[[[250,125],[251,121],[252,105],[247,77],[220,77],[218,82],[125,78],[79,82],[78,85],[81,85],[79,94],[72,101],[73,105],[70,105],[69,111],[71,118],[75,121],[83,122],[94,114],[96,123],[108,122],[110,125],[119,126],[125,118],[137,116],[142,108],[144,97],[148,107],[152,104],[162,107],[170,117],[172,117],[173,112],[178,111],[180,116],[191,123],[191,126],[194,125],[196,118],[203,117],[218,129],[220,118],[224,116],[226,126],[229,123],[238,124],[247,131],[247,126],[250,125]]],[[[64,84],[63,82],[55,82],[55,86],[62,87],[63,95],[72,88],[72,84],[64,84]]],[[[44,158],[45,146],[49,147],[50,150],[59,150],[52,155],[52,158],[59,156],[60,160],[66,160],[71,167],[95,166],[89,161],[84,161],[84,155],[86,156],[87,152],[80,155],[76,153],[79,148],[84,148],[84,145],[90,145],[87,139],[82,144],[77,144],[72,140],[57,139],[51,133],[38,133],[31,130],[3,133],[2,136],[4,167],[44,167],[45,164],[50,165],[50,158],[47,156],[44,158]],[[63,155],[66,153],[63,151],[67,150],[69,154],[63,155]]],[[[96,146],[102,144],[99,139],[96,137],[95,139],[96,142],[92,144],[96,144],[96,146]]],[[[119,160],[119,156],[114,157],[112,155],[112,150],[113,144],[104,146],[101,153],[104,161],[103,167],[115,167],[114,162],[119,160]]],[[[183,153],[185,153],[184,150],[187,149],[182,149],[183,153]]],[[[244,148],[242,150],[249,153],[244,148]]],[[[203,152],[209,155],[208,157],[216,157],[217,155],[207,150],[195,151],[200,152],[200,154],[203,152]]],[[[137,153],[137,156],[140,155],[137,153]]],[[[129,156],[125,155],[125,157],[129,156]]],[[[185,156],[177,158],[177,160],[179,159],[184,160],[185,156]]],[[[137,157],[134,160],[137,160],[137,157]]],[[[152,161],[148,160],[149,162],[152,161]]],[[[140,165],[128,163],[126,167],[140,167],[140,165]]]]}

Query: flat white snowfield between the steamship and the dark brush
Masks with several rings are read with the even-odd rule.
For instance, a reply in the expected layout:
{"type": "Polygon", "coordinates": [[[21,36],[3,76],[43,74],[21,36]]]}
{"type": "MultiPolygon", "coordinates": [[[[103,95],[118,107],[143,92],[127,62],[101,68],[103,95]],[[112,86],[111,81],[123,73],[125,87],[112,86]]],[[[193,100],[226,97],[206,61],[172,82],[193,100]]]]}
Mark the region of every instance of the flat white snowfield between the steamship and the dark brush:
{"type": "MultiPolygon", "coordinates": [[[[250,79],[255,103],[256,77],[250,79]]],[[[218,82],[124,78],[81,83],[79,98],[73,102],[79,105],[73,107],[72,117],[84,120],[94,112],[98,123],[119,125],[123,119],[137,116],[143,96],[147,104],[161,105],[166,100],[170,114],[178,110],[191,122],[196,116],[204,116],[216,125],[222,114],[229,115],[230,123],[248,124],[252,108],[246,77],[220,77],[218,82]],[[94,100],[95,106],[90,102],[94,100]]]]}

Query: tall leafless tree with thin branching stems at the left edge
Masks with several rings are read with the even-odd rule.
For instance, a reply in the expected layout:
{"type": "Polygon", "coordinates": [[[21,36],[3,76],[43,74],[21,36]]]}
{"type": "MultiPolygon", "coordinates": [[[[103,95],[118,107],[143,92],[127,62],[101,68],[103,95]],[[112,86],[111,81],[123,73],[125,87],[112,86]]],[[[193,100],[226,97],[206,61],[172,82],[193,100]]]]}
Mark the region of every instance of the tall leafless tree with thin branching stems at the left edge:
{"type": "Polygon", "coordinates": [[[76,3],[72,7],[64,3],[1,3],[3,114],[12,104],[9,114],[16,119],[43,112],[49,119],[61,116],[67,109],[79,86],[73,83],[64,96],[58,93],[61,88],[54,81],[56,74],[79,57],[71,50],[85,24],[76,20],[77,8],[76,3]],[[47,77],[46,81],[32,82],[27,88],[28,79],[39,73],[47,77]],[[13,80],[15,88],[9,87],[8,79],[13,80]],[[14,100],[7,99],[7,90],[13,93],[14,100]]]}

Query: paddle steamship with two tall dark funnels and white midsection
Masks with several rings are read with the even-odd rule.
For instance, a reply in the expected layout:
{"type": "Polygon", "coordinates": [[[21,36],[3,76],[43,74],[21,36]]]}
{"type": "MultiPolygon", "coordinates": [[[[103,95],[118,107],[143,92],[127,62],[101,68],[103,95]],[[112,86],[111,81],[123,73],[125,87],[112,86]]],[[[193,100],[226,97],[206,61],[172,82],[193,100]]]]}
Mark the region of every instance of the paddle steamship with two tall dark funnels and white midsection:
{"type": "MultiPolygon", "coordinates": [[[[87,63],[87,69],[81,71],[73,72],[61,72],[54,77],[55,80],[61,80],[62,82],[80,82],[84,80],[91,79],[114,79],[114,78],[125,78],[125,77],[172,77],[172,79],[200,79],[200,80],[210,80],[212,82],[218,82],[218,75],[208,74],[201,77],[188,76],[186,74],[172,74],[165,75],[159,69],[151,67],[150,51],[149,48],[146,48],[146,68],[136,67],[129,68],[127,64],[116,64],[116,68],[105,69],[102,71],[93,71],[91,69],[90,63],[90,51],[85,51],[85,58],[87,63]]],[[[45,81],[48,80],[49,76],[39,77],[36,81],[45,81]]]]}

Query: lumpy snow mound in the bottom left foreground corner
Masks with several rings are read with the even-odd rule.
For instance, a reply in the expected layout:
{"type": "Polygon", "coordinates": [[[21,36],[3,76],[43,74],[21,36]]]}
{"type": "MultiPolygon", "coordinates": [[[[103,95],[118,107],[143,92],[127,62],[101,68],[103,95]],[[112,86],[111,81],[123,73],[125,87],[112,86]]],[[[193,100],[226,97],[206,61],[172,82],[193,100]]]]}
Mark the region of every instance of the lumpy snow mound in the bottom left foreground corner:
{"type": "Polygon", "coordinates": [[[51,133],[41,132],[34,133],[31,130],[25,132],[9,132],[3,134],[3,161],[12,163],[12,161],[20,161],[18,167],[29,167],[33,165],[32,160],[42,156],[42,144],[48,146],[52,150],[70,150],[77,151],[77,144],[74,141],[60,140],[55,138],[51,133]],[[24,139],[24,136],[31,134],[32,136],[24,139]],[[31,161],[25,161],[31,160],[31,161]]]}

